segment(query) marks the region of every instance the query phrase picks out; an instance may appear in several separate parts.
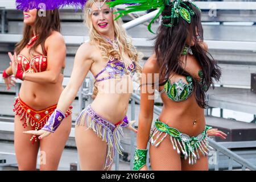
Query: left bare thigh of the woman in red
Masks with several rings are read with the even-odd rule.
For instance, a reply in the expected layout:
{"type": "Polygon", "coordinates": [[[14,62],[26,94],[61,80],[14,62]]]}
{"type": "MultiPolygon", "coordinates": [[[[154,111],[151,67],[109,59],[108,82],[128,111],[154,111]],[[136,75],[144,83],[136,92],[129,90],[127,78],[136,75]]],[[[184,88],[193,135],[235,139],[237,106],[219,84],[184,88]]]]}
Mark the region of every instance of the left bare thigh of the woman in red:
{"type": "MultiPolygon", "coordinates": [[[[25,118],[24,118],[25,119],[25,118]]],[[[36,170],[36,160],[38,156],[39,142],[31,143],[32,135],[23,134],[23,131],[32,130],[31,126],[24,128],[20,121],[20,115],[14,118],[14,148],[19,170],[36,170]]]]}

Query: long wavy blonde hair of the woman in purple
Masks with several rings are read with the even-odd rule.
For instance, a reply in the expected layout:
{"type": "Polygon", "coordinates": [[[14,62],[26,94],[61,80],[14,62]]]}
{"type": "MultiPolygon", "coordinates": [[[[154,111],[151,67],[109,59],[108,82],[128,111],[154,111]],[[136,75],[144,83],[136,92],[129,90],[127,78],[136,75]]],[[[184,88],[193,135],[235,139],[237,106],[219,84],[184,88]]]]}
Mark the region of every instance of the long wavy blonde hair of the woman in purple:
{"type": "MultiPolygon", "coordinates": [[[[104,0],[101,0],[103,2],[104,0]]],[[[106,2],[110,2],[110,0],[107,0],[106,2]]],[[[108,60],[110,56],[115,57],[116,59],[122,59],[123,55],[126,53],[130,59],[134,60],[134,64],[136,67],[136,72],[138,74],[138,77],[141,77],[142,68],[141,65],[139,65],[139,60],[142,59],[143,55],[141,52],[137,52],[133,44],[131,44],[131,38],[126,34],[126,30],[122,27],[122,19],[119,18],[117,20],[113,20],[114,22],[114,33],[115,38],[117,38],[117,43],[119,47],[119,52],[115,51],[109,43],[106,42],[104,38],[98,32],[95,30],[92,24],[92,18],[89,14],[88,9],[90,9],[93,5],[92,0],[88,0],[86,2],[86,5],[84,7],[84,15],[85,15],[85,24],[89,28],[89,38],[90,43],[96,47],[98,47],[101,50],[101,55],[104,59],[108,60]]],[[[113,8],[113,13],[116,12],[117,9],[113,8]]],[[[117,17],[117,14],[113,14],[113,19],[117,17]]],[[[93,96],[94,99],[97,95],[97,88],[94,86],[93,89],[93,96]]]]}

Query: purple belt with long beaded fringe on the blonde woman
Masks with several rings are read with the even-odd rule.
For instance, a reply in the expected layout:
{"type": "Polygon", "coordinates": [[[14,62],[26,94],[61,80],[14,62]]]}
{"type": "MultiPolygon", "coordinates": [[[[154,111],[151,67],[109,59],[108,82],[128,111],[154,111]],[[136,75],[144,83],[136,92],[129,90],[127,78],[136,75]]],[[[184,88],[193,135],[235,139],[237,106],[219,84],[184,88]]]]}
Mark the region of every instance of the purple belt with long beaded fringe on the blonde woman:
{"type": "Polygon", "coordinates": [[[121,125],[114,125],[110,121],[98,115],[90,105],[79,114],[76,119],[76,126],[84,126],[92,129],[98,137],[102,138],[108,145],[105,168],[113,163],[115,151],[122,155],[123,148],[120,139],[123,137],[121,125]]]}

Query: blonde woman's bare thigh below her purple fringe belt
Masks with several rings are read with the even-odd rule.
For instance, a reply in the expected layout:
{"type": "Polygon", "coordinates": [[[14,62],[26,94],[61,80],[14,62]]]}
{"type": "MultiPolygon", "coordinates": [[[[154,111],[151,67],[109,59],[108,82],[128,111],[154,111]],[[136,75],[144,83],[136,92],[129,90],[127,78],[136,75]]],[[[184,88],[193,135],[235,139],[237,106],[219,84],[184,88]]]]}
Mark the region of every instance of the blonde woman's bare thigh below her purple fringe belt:
{"type": "Polygon", "coordinates": [[[76,126],[76,146],[82,171],[105,169],[107,144],[86,126],[76,126]]]}

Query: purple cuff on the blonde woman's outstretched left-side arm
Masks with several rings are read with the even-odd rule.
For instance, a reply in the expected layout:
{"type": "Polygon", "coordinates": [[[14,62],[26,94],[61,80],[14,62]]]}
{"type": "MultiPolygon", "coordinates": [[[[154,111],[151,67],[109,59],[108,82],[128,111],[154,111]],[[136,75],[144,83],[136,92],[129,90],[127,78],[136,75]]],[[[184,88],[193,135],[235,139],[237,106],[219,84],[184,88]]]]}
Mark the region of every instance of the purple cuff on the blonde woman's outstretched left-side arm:
{"type": "Polygon", "coordinates": [[[48,121],[42,128],[44,131],[49,131],[51,133],[54,133],[57,128],[60,126],[61,121],[65,118],[65,114],[60,111],[59,109],[56,109],[51,116],[49,117],[48,121]]]}

